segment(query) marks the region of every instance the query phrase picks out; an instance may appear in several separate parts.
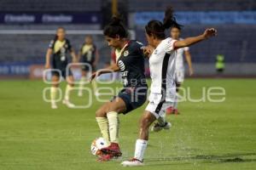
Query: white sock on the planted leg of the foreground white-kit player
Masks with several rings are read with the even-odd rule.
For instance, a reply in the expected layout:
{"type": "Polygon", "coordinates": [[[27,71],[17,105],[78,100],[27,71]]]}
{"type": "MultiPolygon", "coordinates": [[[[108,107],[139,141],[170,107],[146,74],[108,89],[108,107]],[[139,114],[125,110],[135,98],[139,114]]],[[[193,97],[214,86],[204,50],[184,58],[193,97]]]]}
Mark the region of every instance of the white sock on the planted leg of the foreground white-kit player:
{"type": "Polygon", "coordinates": [[[147,144],[148,144],[148,140],[137,139],[136,145],[135,145],[134,158],[136,158],[139,161],[143,161],[147,144]]]}

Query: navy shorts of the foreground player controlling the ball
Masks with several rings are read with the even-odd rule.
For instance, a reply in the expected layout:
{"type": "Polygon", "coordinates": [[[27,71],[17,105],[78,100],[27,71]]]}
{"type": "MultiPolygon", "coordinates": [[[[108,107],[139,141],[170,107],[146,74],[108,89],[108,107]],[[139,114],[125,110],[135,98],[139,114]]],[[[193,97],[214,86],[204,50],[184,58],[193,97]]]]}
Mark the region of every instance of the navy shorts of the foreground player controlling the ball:
{"type": "MultiPolygon", "coordinates": [[[[117,96],[113,97],[113,99],[119,97],[120,99],[123,99],[125,101],[126,111],[123,112],[123,114],[125,115],[126,113],[142,106],[147,100],[147,93],[147,86],[123,88],[117,96]]],[[[113,101],[113,99],[111,99],[110,101],[113,101]]]]}

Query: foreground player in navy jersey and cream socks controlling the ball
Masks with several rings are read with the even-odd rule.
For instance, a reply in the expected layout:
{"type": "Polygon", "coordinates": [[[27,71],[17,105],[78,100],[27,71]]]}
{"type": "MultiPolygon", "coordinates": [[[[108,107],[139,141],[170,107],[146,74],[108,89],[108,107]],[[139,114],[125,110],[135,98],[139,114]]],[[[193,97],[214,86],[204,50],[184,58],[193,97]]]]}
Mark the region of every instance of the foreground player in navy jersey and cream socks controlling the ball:
{"type": "Polygon", "coordinates": [[[128,33],[117,17],[113,17],[103,33],[108,46],[115,48],[116,63],[108,69],[96,71],[91,79],[103,73],[120,71],[124,85],[117,96],[96,111],[102,137],[111,143],[102,149],[108,155],[102,156],[101,161],[108,161],[113,156],[122,155],[119,150],[119,114],[127,114],[143,105],[148,86],[144,76],[143,44],[128,39],[128,33]]]}

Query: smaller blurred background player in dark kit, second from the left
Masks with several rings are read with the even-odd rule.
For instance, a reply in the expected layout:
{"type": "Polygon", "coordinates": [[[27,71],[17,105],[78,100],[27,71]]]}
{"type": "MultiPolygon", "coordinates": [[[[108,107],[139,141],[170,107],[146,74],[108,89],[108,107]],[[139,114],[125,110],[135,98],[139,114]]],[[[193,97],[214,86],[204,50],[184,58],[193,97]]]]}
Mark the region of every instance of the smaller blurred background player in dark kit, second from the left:
{"type": "MultiPolygon", "coordinates": [[[[79,86],[79,96],[83,96],[83,87],[88,76],[88,71],[95,71],[96,65],[99,60],[99,53],[96,48],[96,45],[93,43],[93,38],[91,36],[86,36],[84,38],[84,44],[79,52],[79,60],[81,63],[86,64],[82,65],[82,77],[80,80],[79,86]]],[[[96,82],[92,82],[92,86],[95,94],[97,95],[96,82]]]]}

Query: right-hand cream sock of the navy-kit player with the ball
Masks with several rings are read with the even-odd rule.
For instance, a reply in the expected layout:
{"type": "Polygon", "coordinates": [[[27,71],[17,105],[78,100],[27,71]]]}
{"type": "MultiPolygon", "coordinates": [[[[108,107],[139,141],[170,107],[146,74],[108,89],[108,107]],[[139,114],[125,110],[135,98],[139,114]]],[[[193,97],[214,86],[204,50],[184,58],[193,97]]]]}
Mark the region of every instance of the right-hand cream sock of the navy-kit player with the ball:
{"type": "Polygon", "coordinates": [[[119,143],[119,114],[115,111],[107,113],[110,142],[119,143]]]}

